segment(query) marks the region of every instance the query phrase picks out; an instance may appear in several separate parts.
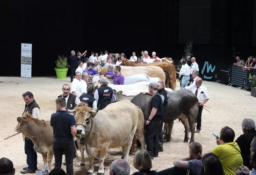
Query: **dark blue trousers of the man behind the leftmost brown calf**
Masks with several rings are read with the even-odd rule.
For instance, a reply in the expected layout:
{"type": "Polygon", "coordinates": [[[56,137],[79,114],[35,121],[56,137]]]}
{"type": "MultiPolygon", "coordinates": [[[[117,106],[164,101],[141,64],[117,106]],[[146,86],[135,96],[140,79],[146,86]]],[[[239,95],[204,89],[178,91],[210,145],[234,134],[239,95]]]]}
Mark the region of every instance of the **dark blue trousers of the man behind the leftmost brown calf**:
{"type": "Polygon", "coordinates": [[[31,140],[25,138],[25,154],[27,155],[27,165],[29,170],[37,170],[37,154],[31,140]]]}

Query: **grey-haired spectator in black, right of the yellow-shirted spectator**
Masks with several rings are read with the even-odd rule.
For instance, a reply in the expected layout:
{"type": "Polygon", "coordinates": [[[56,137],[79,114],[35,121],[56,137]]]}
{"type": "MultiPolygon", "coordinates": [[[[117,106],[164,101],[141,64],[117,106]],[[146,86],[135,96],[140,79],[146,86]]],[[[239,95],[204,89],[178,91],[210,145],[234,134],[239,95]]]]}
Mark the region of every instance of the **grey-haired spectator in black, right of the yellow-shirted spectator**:
{"type": "Polygon", "coordinates": [[[243,158],[244,166],[247,166],[250,170],[252,170],[253,167],[250,166],[249,156],[251,154],[251,142],[253,141],[253,137],[256,136],[254,120],[247,118],[244,119],[242,122],[242,130],[243,134],[240,135],[235,142],[241,149],[241,155],[243,158]]]}

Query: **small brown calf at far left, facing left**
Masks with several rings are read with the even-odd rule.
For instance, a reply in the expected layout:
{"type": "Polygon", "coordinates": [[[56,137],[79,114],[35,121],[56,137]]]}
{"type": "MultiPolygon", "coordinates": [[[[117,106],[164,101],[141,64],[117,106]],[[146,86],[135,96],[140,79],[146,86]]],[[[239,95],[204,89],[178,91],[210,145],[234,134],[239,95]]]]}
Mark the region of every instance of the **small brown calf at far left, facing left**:
{"type": "Polygon", "coordinates": [[[16,132],[21,132],[24,137],[32,140],[34,150],[42,155],[44,170],[51,170],[53,157],[52,140],[53,129],[49,121],[33,118],[32,115],[24,113],[17,118],[16,132]]]}

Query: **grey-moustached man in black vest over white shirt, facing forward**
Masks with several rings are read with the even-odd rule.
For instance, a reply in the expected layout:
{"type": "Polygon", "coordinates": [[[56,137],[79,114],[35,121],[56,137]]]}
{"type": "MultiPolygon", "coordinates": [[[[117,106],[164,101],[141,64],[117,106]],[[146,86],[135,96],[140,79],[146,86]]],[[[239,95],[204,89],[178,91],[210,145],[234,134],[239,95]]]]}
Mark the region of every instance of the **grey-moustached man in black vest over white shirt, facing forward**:
{"type": "Polygon", "coordinates": [[[77,96],[70,93],[70,90],[70,86],[68,84],[64,84],[62,86],[63,94],[58,96],[58,98],[63,97],[66,100],[66,108],[68,108],[69,110],[73,110],[75,106],[80,103],[80,100],[77,96]]]}

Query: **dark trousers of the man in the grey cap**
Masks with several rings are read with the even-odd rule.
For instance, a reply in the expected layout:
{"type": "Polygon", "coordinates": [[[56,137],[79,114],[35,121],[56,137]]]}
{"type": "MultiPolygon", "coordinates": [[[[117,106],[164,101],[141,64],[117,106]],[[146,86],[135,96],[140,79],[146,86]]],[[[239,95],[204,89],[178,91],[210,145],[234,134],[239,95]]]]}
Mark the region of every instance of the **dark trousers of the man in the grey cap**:
{"type": "Polygon", "coordinates": [[[160,121],[150,121],[149,125],[146,126],[145,141],[147,145],[147,151],[151,157],[158,156],[159,139],[158,139],[158,127],[160,121]]]}

